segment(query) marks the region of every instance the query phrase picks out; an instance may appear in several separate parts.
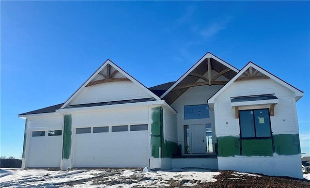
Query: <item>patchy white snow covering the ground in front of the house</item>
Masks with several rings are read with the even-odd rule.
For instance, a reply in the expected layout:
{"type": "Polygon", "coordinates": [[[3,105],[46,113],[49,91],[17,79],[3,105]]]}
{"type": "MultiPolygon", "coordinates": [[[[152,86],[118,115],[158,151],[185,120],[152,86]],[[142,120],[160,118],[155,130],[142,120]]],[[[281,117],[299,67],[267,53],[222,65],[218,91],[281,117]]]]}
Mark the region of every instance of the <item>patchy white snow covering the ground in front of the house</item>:
{"type": "MultiPolygon", "coordinates": [[[[215,182],[220,172],[205,169],[172,169],[171,171],[150,171],[125,169],[99,170],[20,170],[0,169],[0,188],[132,188],[132,187],[192,187],[199,183],[215,182]]],[[[261,177],[251,173],[233,172],[231,179],[244,179],[246,176],[261,177]]],[[[310,179],[310,174],[304,174],[310,179]]]]}

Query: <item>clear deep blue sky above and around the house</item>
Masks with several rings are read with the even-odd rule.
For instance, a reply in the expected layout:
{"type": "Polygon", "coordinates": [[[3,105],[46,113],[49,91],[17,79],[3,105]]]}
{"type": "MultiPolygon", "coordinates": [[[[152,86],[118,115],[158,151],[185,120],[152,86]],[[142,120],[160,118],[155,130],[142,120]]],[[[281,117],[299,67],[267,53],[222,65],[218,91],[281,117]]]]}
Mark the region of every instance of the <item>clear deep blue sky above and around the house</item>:
{"type": "Polygon", "coordinates": [[[107,59],[147,87],[182,76],[206,52],[252,61],[304,91],[310,156],[310,1],[0,1],[1,156],[19,158],[17,114],[64,102],[107,59]]]}

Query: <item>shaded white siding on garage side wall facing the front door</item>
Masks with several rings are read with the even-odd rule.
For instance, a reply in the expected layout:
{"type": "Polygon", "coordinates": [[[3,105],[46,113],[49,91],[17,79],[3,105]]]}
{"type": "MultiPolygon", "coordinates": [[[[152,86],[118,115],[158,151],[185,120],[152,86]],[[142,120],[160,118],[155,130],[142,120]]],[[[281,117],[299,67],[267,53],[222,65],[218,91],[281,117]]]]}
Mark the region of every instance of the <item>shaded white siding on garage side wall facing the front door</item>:
{"type": "Polygon", "coordinates": [[[164,139],[177,142],[177,115],[164,108],[164,139]]]}

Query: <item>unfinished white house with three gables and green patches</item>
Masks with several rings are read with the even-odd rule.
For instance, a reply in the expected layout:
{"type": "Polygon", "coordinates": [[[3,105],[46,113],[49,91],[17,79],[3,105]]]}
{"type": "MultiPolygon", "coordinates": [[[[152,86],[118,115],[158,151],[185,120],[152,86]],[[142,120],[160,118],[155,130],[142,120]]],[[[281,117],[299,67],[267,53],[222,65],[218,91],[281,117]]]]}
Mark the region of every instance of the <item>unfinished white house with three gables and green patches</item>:
{"type": "Polygon", "coordinates": [[[64,103],[26,119],[22,168],[198,167],[302,177],[303,92],[249,62],[208,52],[146,88],[107,60],[64,103]],[[286,161],[283,163],[283,161],[286,161]]]}

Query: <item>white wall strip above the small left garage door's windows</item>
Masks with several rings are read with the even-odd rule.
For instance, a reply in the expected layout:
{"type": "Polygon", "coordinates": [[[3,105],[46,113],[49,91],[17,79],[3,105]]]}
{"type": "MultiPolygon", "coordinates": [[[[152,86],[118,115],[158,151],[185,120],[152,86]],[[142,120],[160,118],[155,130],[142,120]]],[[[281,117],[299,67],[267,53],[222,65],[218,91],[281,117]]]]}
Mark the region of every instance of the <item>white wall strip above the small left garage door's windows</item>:
{"type": "Polygon", "coordinates": [[[62,115],[50,115],[27,118],[29,130],[62,129],[62,115]]]}

